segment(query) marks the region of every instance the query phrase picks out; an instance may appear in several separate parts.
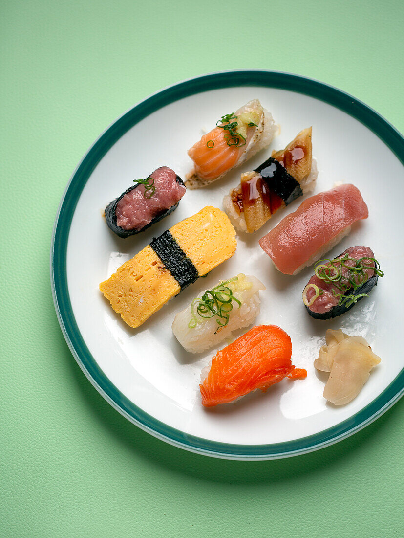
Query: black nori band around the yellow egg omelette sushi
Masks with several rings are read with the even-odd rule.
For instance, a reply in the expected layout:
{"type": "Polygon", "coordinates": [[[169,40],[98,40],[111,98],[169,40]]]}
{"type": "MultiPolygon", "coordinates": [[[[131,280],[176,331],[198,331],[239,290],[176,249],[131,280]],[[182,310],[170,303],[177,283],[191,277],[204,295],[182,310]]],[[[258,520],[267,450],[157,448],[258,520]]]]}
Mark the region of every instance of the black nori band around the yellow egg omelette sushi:
{"type": "Polygon", "coordinates": [[[170,230],[166,230],[161,236],[154,237],[150,246],[161,259],[165,268],[176,279],[181,289],[198,279],[199,274],[196,267],[172,237],[170,230]]]}

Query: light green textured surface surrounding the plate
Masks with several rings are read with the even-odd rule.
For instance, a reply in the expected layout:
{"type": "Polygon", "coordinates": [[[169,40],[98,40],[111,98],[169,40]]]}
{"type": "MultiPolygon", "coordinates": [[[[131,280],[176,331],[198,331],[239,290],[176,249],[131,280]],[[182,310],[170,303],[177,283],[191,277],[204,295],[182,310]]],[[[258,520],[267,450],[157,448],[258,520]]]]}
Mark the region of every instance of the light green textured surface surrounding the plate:
{"type": "Polygon", "coordinates": [[[306,75],[402,131],[403,8],[3,0],[1,536],[402,535],[403,400],[305,456],[227,462],[173,448],[121,417],[76,365],[53,308],[49,246],[64,187],[93,140],[135,102],[187,77],[233,68],[306,75]]]}

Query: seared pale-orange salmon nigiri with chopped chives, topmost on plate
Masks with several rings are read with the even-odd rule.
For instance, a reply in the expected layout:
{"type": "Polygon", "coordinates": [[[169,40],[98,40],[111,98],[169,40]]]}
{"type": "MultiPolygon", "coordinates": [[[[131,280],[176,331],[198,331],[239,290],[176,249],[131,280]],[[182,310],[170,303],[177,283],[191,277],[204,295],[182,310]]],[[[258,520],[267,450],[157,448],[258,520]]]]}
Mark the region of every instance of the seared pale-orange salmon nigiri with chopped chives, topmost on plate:
{"type": "Polygon", "coordinates": [[[276,130],[272,115],[258,99],[222,116],[217,126],[188,150],[194,168],[185,185],[197,189],[221,178],[269,146],[276,130]]]}

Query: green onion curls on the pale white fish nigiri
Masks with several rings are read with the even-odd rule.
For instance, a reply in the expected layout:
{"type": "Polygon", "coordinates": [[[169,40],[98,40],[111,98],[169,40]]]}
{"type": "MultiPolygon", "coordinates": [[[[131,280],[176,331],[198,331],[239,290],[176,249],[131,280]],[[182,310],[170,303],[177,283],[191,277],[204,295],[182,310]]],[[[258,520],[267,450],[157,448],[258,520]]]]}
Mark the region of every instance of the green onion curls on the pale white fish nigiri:
{"type": "Polygon", "coordinates": [[[227,286],[229,282],[238,280],[239,277],[234,277],[225,282],[220,282],[212,289],[207,289],[206,292],[199,299],[197,297],[191,303],[191,320],[188,323],[190,329],[194,329],[198,323],[198,317],[211,318],[217,316],[217,324],[219,327],[215,330],[214,334],[217,334],[218,330],[225,327],[229,322],[230,312],[233,310],[232,301],[237,303],[238,308],[241,307],[241,301],[236,299],[233,295],[231,288],[227,286]]]}

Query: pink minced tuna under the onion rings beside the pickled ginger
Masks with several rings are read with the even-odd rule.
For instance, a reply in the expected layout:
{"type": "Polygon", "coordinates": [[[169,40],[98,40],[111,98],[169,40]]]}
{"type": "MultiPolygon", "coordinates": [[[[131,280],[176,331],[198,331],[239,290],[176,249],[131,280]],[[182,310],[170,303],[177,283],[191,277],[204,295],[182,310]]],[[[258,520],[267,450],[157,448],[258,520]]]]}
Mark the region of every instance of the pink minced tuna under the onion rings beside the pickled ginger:
{"type": "MultiPolygon", "coordinates": [[[[345,250],[341,256],[338,256],[338,258],[343,258],[345,254],[348,254],[349,258],[353,258],[355,260],[359,260],[360,258],[374,258],[373,251],[369,248],[369,246],[351,246],[349,249],[345,250]]],[[[372,262],[370,260],[366,260],[366,265],[370,265],[372,262]]],[[[326,262],[327,264],[327,262],[326,262]]],[[[327,265],[330,265],[329,262],[327,265]]],[[[347,265],[354,266],[354,262],[347,262],[347,265]]],[[[340,265],[337,265],[338,268],[340,268],[340,265]]],[[[347,267],[342,266],[342,280],[340,284],[348,284],[348,279],[350,277],[350,271],[347,267]]],[[[364,273],[367,275],[367,280],[374,277],[374,270],[373,269],[365,269],[364,273]]],[[[357,278],[355,277],[355,281],[358,283],[357,278]]],[[[312,312],[315,312],[317,314],[324,314],[326,312],[329,312],[331,308],[334,306],[337,306],[338,300],[340,299],[339,296],[335,296],[333,293],[333,289],[335,294],[340,294],[341,289],[338,289],[334,284],[331,284],[331,282],[327,282],[319,278],[317,275],[313,275],[313,277],[307,282],[307,284],[314,284],[315,286],[318,286],[320,289],[322,289],[323,293],[322,295],[319,295],[319,297],[313,301],[312,305],[309,306],[310,310],[312,312]]],[[[352,293],[351,291],[347,293],[352,293]]],[[[314,288],[309,288],[307,290],[307,301],[310,302],[310,300],[315,295],[314,288]]]]}

